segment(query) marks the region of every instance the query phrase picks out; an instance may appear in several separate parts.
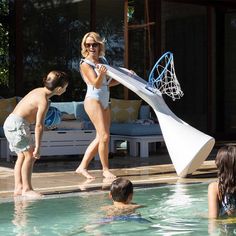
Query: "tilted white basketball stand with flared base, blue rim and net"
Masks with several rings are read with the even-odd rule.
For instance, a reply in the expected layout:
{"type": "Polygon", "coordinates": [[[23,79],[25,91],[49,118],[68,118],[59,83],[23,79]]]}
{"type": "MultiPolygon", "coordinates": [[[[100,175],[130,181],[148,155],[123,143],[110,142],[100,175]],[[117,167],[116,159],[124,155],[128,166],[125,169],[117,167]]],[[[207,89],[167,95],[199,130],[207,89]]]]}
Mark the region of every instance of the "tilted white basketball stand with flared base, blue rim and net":
{"type": "MultiPolygon", "coordinates": [[[[175,77],[174,66],[171,65],[172,54],[167,53],[162,58],[159,61],[163,60],[164,62],[159,63],[158,61],[153,69],[153,71],[157,70],[155,73],[159,73],[156,78],[159,78],[159,80],[171,80],[171,82],[165,82],[167,85],[164,92],[168,93],[168,95],[170,94],[173,99],[180,98],[183,96],[183,92],[175,77]]],[[[150,91],[150,89],[146,89],[146,80],[131,74],[130,71],[109,65],[105,66],[108,76],[132,90],[153,108],[177,175],[186,177],[199,168],[210,154],[215,144],[215,139],[190,126],[170,110],[158,89],[159,87],[156,85],[158,81],[156,82],[154,79],[154,72],[152,71],[150,74],[150,84],[153,84],[155,93],[150,91]]],[[[160,89],[162,90],[162,88],[160,89]]]]}

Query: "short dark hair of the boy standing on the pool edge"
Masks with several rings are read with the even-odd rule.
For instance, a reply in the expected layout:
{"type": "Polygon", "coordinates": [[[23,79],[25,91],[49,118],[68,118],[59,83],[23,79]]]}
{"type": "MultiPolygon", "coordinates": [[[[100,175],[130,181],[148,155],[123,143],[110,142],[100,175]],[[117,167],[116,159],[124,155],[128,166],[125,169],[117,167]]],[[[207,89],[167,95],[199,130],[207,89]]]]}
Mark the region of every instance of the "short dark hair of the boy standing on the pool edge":
{"type": "Polygon", "coordinates": [[[68,75],[63,71],[53,70],[43,78],[43,85],[53,91],[57,87],[64,87],[69,83],[68,75]]]}

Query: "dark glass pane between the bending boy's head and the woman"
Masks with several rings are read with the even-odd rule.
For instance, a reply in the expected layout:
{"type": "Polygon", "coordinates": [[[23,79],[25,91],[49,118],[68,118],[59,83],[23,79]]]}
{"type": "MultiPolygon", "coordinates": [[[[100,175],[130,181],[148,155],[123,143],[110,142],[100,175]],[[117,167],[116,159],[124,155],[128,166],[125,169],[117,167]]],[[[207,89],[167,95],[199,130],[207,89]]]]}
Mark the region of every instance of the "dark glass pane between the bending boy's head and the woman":
{"type": "Polygon", "coordinates": [[[59,69],[69,71],[72,78],[60,99],[83,99],[78,67],[80,42],[90,25],[89,9],[90,1],[23,3],[24,93],[41,86],[41,78],[48,71],[59,69]]]}

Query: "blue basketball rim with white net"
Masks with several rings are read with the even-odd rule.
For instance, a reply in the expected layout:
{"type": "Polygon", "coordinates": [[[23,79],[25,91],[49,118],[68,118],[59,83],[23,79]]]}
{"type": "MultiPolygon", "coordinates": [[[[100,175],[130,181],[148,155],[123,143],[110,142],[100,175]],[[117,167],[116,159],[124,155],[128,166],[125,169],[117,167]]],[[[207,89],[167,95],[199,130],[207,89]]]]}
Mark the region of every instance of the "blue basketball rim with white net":
{"type": "Polygon", "coordinates": [[[184,93],[175,75],[174,58],[171,52],[166,52],[153,66],[146,89],[153,93],[166,94],[173,99],[180,99],[184,93]]]}

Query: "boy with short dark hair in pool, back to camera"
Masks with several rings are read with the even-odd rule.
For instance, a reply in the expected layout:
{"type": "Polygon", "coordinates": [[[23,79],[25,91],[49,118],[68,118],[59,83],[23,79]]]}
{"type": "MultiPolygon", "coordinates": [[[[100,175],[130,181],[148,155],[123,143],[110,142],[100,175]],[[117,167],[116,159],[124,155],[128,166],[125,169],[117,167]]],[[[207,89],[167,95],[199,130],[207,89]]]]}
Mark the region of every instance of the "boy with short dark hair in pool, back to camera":
{"type": "Polygon", "coordinates": [[[102,210],[107,212],[107,216],[129,215],[134,213],[135,209],[142,207],[131,202],[133,184],[125,178],[117,178],[112,182],[109,197],[112,199],[113,205],[102,207],[102,210]]]}

